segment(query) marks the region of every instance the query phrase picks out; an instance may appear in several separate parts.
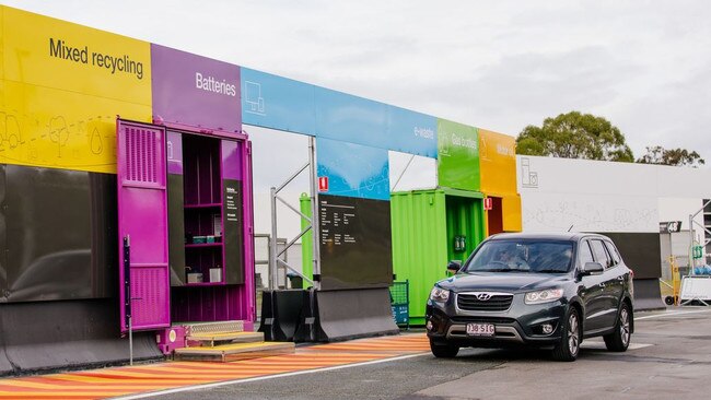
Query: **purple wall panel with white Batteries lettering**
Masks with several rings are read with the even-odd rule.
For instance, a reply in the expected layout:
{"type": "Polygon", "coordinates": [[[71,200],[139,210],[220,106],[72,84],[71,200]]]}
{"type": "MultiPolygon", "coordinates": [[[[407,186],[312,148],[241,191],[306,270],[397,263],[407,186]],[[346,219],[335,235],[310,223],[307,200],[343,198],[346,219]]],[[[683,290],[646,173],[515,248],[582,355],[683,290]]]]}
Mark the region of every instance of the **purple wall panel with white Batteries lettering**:
{"type": "Polygon", "coordinates": [[[153,120],[242,131],[240,67],[151,45],[153,120]]]}

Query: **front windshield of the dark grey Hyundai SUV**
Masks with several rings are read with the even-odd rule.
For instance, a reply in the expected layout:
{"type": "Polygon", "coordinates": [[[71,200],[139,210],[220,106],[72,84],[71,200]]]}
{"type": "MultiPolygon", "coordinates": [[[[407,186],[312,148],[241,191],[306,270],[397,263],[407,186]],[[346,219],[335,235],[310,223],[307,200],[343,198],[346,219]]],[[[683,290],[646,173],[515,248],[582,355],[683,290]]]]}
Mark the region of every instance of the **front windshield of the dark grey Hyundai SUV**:
{"type": "Polygon", "coordinates": [[[573,244],[553,240],[490,240],[467,260],[463,272],[563,273],[572,263],[573,244]]]}

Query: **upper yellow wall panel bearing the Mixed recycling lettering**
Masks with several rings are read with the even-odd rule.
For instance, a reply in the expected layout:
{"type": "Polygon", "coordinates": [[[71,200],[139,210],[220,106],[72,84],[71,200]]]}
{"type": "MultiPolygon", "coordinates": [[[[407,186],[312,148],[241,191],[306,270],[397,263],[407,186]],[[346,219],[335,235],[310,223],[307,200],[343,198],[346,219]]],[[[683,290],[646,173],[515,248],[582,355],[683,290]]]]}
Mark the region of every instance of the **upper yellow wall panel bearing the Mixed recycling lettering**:
{"type": "Polygon", "coordinates": [[[151,104],[151,45],[11,8],[4,10],[4,79],[151,104]]]}

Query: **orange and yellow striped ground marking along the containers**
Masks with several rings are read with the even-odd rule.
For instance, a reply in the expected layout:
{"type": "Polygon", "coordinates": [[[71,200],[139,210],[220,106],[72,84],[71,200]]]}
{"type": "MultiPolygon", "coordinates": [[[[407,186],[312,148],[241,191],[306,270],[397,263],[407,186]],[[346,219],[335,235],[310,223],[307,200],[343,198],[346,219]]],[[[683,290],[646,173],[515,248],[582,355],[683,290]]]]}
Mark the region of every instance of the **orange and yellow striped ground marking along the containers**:
{"type": "Polygon", "coordinates": [[[168,362],[89,372],[0,379],[0,399],[90,399],[186,385],[277,375],[386,360],[429,351],[423,334],[363,339],[296,349],[295,353],[229,363],[168,362]]]}

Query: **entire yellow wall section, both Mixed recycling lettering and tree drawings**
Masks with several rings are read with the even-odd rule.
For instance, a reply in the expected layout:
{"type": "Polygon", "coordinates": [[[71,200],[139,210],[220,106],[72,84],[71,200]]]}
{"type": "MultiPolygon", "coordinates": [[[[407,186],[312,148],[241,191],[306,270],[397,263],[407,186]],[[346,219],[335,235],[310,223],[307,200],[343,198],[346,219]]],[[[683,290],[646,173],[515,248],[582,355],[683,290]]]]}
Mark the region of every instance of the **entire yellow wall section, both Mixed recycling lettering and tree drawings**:
{"type": "Polygon", "coordinates": [[[0,163],[115,173],[116,116],[152,118],[150,44],[0,11],[0,163]]]}

